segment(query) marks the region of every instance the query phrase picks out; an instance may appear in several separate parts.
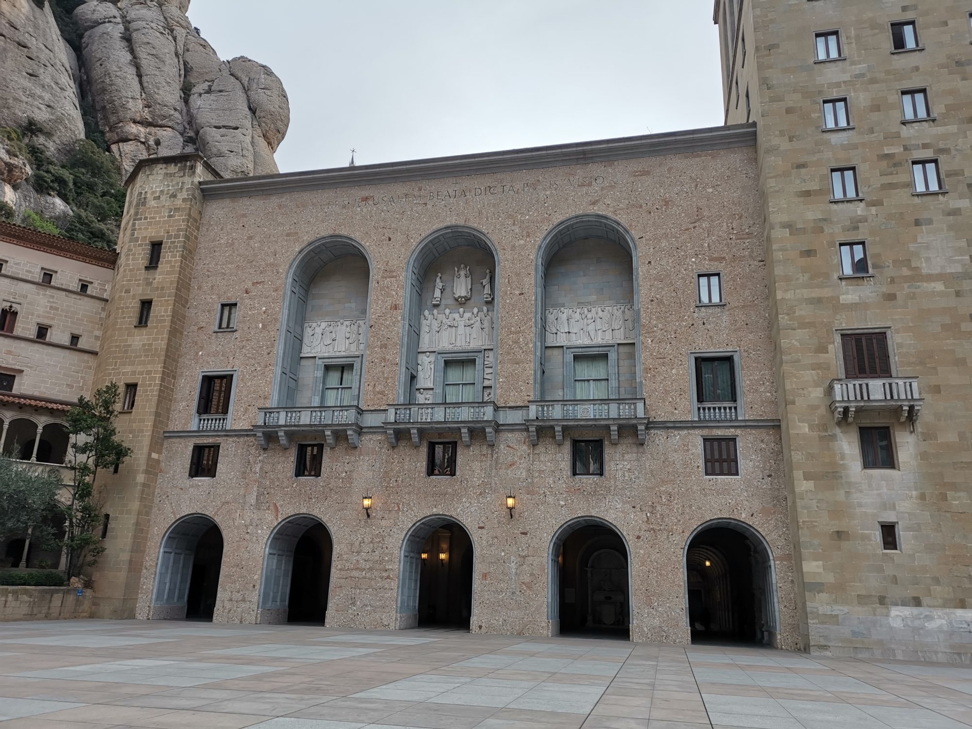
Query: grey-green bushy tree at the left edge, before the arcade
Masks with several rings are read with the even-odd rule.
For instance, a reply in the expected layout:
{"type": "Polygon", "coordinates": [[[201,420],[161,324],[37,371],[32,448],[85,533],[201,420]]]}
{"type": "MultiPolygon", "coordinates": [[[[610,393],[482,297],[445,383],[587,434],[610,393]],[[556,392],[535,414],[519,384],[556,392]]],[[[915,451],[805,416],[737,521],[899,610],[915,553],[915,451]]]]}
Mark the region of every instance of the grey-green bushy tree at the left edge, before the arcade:
{"type": "Polygon", "coordinates": [[[60,489],[57,469],[32,469],[0,457],[0,541],[30,532],[32,539],[49,542],[48,521],[57,512],[60,489]]]}

